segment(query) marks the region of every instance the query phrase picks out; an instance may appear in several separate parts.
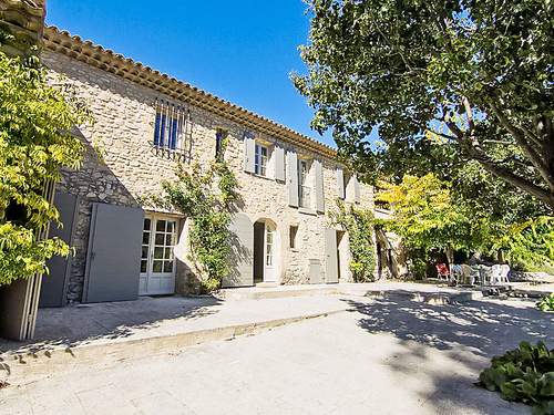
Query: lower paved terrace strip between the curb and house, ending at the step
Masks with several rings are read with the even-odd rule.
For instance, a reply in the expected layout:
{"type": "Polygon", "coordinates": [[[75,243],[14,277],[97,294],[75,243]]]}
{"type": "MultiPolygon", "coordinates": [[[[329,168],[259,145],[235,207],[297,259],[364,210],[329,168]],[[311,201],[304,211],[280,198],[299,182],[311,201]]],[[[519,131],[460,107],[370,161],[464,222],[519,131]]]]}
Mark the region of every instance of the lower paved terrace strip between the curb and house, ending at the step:
{"type": "Polygon", "coordinates": [[[35,341],[0,340],[2,351],[43,351],[172,336],[345,310],[337,295],[218,301],[214,298],[143,298],[137,301],[39,310],[35,341]]]}

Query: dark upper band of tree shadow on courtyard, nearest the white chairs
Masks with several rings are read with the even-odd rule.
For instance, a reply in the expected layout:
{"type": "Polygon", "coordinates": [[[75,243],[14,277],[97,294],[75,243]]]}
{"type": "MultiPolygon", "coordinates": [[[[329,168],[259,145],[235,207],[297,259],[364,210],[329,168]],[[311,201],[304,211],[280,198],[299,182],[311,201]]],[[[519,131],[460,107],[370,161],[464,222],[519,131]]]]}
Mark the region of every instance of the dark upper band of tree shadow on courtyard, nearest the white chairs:
{"type": "Polygon", "coordinates": [[[403,341],[416,341],[439,350],[468,347],[492,356],[515,347],[522,340],[554,342],[554,317],[515,302],[471,301],[432,305],[416,301],[348,300],[363,318],[360,328],[387,332],[403,341]]]}

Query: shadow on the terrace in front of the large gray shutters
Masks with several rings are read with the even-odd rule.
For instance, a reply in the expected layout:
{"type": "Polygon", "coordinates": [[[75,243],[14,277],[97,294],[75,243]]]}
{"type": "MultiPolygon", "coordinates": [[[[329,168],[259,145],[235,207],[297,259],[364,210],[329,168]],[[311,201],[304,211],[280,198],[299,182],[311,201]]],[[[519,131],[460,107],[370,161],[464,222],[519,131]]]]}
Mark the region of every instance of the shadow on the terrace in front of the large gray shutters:
{"type": "Polygon", "coordinates": [[[63,345],[72,347],[99,339],[129,338],[140,331],[155,329],[164,321],[194,320],[217,312],[213,297],[143,297],[135,301],[80,304],[39,309],[34,340],[13,342],[0,339],[1,352],[48,351],[63,345]]]}

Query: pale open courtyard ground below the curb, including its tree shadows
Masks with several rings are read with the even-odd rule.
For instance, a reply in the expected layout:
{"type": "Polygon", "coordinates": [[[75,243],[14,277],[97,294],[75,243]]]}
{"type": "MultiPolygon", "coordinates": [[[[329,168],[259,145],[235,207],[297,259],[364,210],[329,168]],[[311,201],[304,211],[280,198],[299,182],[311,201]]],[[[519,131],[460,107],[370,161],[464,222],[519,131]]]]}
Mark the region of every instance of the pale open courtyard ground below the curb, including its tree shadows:
{"type": "Polygon", "coordinates": [[[0,413],[531,413],[473,382],[520,340],[552,346],[553,319],[532,303],[342,301],[350,312],[11,385],[0,413]]]}

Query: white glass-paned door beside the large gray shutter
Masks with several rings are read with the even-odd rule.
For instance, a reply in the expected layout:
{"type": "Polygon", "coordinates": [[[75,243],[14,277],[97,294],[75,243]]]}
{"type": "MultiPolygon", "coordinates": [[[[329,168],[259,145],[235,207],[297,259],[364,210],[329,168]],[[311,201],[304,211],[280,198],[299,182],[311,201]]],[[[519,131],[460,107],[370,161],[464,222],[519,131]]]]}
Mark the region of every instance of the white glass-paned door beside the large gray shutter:
{"type": "Polygon", "coordinates": [[[141,258],[140,295],[175,292],[175,256],[177,220],[148,215],[144,218],[141,258]]]}

